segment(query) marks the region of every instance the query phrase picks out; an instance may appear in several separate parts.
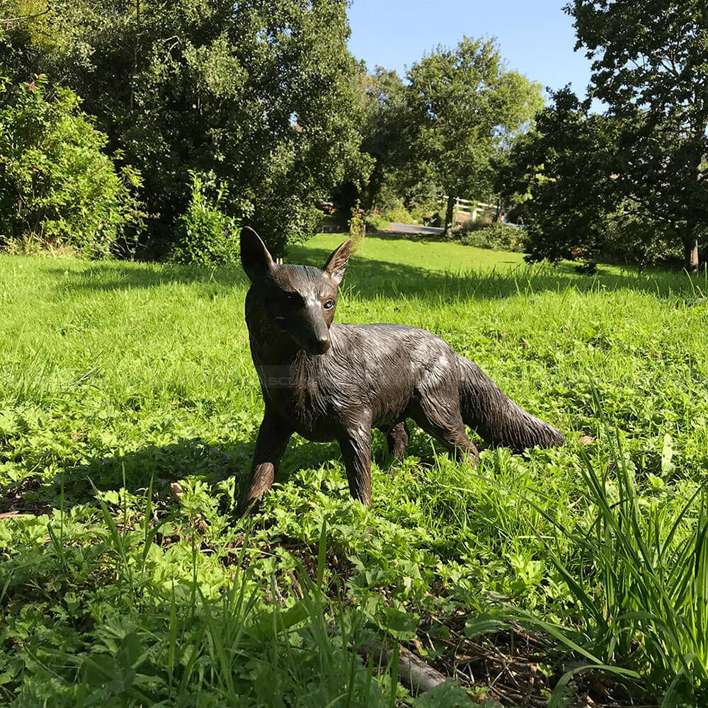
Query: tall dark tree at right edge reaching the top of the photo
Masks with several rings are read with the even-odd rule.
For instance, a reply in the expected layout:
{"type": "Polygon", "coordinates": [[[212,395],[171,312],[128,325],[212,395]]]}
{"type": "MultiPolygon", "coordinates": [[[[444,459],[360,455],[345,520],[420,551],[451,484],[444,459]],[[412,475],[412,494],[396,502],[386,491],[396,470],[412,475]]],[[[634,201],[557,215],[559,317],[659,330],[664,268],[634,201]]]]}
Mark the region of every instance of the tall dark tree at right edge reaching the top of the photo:
{"type": "Polygon", "coordinates": [[[573,0],[590,93],[622,121],[617,186],[683,244],[698,267],[708,227],[708,5],[702,0],[573,0]]]}

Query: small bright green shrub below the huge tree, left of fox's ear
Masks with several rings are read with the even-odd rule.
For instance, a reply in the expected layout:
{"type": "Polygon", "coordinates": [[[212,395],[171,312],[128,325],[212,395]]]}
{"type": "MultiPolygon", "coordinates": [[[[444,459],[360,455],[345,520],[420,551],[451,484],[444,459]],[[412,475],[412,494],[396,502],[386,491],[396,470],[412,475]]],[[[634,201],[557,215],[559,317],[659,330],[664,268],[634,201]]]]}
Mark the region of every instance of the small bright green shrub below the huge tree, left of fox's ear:
{"type": "Polygon", "coordinates": [[[213,172],[190,171],[192,197],[177,221],[172,260],[176,263],[223,265],[239,258],[239,222],[221,207],[229,195],[225,183],[213,172]],[[214,194],[210,197],[209,193],[214,194]]]}

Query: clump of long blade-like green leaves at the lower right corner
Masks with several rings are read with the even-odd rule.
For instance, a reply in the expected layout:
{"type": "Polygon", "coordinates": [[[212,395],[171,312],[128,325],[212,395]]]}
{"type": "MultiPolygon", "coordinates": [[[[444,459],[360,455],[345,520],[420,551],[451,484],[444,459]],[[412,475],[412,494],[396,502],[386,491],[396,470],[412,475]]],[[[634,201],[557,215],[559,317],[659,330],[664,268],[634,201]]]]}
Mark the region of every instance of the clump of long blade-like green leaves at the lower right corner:
{"type": "MultiPolygon", "coordinates": [[[[599,404],[599,401],[598,401],[599,404]]],[[[706,484],[677,500],[672,513],[646,503],[636,468],[623,454],[619,433],[605,428],[616,478],[583,455],[586,499],[595,510],[586,527],[561,526],[578,549],[579,569],[553,557],[573,600],[582,608],[581,632],[564,639],[581,644],[599,661],[649,667],[653,686],[666,689],[666,704],[687,692],[708,692],[708,518],[706,484]],[[614,438],[614,440],[613,440],[614,438]],[[577,578],[593,578],[588,587],[577,578]],[[670,682],[670,683],[669,683],[670,682]]],[[[663,440],[661,473],[669,474],[673,440],[663,440]]]]}

